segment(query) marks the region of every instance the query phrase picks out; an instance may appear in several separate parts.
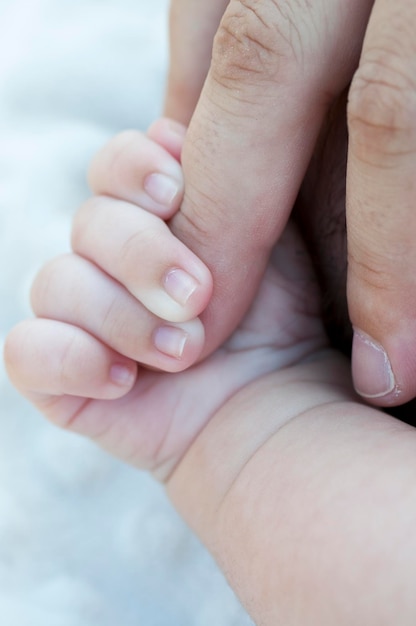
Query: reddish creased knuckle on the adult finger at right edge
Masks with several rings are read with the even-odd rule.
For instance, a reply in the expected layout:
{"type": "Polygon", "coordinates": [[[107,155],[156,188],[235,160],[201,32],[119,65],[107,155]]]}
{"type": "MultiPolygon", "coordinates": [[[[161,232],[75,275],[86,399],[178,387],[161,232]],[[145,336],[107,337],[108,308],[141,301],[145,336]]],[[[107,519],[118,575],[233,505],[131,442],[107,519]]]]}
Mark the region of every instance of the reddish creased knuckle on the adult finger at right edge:
{"type": "Polygon", "coordinates": [[[348,126],[356,154],[376,166],[415,150],[416,82],[398,71],[393,59],[383,51],[368,54],[349,92],[348,126]]]}

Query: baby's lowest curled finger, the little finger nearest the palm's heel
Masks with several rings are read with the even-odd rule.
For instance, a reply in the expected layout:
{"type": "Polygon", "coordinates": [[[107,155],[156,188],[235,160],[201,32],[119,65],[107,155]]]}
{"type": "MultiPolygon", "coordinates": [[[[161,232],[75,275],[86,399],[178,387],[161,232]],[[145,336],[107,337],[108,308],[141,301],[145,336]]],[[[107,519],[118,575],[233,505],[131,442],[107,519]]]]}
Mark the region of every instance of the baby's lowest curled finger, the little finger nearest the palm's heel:
{"type": "Polygon", "coordinates": [[[4,346],[6,371],[24,395],[111,400],[134,385],[137,365],[85,330],[52,319],[21,322],[4,346]]]}

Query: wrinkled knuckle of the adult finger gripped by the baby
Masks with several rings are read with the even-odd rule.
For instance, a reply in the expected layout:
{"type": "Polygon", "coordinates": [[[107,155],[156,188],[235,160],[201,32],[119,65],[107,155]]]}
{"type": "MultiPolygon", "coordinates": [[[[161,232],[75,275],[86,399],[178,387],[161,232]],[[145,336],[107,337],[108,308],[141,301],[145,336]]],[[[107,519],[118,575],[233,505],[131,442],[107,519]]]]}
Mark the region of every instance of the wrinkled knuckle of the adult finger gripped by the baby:
{"type": "MultiPolygon", "coordinates": [[[[217,82],[233,88],[246,81],[276,80],[296,58],[294,22],[274,0],[235,0],[217,31],[212,72],[217,82]]],[[[292,66],[291,66],[292,67],[292,66]]]]}

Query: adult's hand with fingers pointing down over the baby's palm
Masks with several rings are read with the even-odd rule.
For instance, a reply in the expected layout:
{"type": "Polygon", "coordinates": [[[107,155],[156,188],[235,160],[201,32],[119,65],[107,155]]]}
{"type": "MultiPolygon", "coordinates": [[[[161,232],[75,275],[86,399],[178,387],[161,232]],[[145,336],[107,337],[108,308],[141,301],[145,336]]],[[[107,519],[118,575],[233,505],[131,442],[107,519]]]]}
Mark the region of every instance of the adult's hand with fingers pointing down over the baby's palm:
{"type": "MultiPolygon", "coordinates": [[[[347,181],[348,303],[357,329],[353,375],[363,396],[393,405],[416,393],[410,297],[416,261],[411,211],[416,7],[410,0],[377,0],[368,22],[372,4],[227,4],[183,152],[186,197],[173,229],[214,274],[214,297],[203,317],[208,353],[251,302],[325,113],[353,77],[347,181]]],[[[224,9],[224,2],[214,5],[200,38],[203,71],[195,70],[196,55],[184,92],[186,116],[203,82],[209,33],[224,9]]],[[[186,13],[183,7],[173,3],[177,20],[186,13]]],[[[201,9],[193,11],[196,15],[201,9]]],[[[175,28],[180,32],[180,23],[175,28]]],[[[185,56],[181,41],[179,55],[173,40],[172,68],[185,56]]],[[[176,85],[186,83],[183,67],[176,85]]],[[[175,114],[179,105],[178,97],[172,105],[173,84],[167,110],[175,114]]]]}

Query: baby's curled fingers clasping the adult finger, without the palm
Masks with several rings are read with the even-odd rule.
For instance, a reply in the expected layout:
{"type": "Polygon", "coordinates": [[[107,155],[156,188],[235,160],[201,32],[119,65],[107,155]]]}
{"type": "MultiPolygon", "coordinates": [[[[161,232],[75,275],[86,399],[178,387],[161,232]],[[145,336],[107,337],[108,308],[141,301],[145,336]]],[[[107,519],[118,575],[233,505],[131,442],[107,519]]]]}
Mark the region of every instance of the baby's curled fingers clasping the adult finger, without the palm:
{"type": "Polygon", "coordinates": [[[182,200],[184,134],[162,119],[94,158],[95,195],[75,215],[73,252],[40,271],[36,317],[6,342],[9,375],[31,399],[115,399],[134,385],[138,363],[178,372],[198,359],[212,279],[165,223],[182,200]]]}

